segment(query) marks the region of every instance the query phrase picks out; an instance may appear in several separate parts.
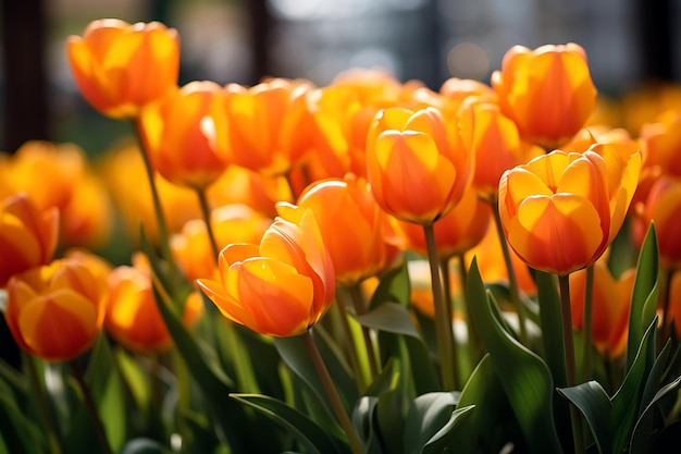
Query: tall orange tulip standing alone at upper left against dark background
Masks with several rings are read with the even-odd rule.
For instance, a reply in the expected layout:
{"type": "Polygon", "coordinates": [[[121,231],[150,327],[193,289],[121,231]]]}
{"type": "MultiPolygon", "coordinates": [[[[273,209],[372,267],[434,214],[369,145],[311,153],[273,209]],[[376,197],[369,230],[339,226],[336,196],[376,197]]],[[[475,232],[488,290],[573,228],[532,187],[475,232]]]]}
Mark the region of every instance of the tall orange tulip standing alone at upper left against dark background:
{"type": "Polygon", "coordinates": [[[107,116],[134,119],[145,105],[177,89],[179,37],[161,23],[98,20],[66,46],[78,88],[107,116]]]}

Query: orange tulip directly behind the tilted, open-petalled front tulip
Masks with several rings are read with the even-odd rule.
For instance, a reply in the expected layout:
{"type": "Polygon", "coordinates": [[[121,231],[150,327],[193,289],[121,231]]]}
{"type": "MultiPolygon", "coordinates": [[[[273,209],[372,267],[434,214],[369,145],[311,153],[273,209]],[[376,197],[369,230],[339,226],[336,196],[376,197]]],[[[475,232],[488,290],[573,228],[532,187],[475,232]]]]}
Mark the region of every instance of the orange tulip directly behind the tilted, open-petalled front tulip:
{"type": "Polygon", "coordinates": [[[284,219],[292,210],[310,209],[334,265],[337,282],[352,286],[391,265],[398,250],[386,243],[387,214],[371,195],[367,181],[354,174],[313,183],[297,206],[278,204],[284,219]]]}

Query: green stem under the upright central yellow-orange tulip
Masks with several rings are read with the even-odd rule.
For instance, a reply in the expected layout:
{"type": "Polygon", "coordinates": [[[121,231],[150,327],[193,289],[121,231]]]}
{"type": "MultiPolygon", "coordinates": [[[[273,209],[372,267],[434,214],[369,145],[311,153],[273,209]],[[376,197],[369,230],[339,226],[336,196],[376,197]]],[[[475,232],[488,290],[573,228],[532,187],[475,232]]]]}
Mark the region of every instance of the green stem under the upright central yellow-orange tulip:
{"type": "Polygon", "coordinates": [[[423,225],[423,232],[428,247],[428,260],[431,267],[431,285],[433,287],[433,305],[435,307],[435,334],[437,338],[437,349],[439,352],[442,385],[444,391],[454,391],[456,390],[455,365],[457,361],[455,358],[456,352],[454,349],[451,318],[447,317],[451,314],[450,309],[447,307],[450,303],[445,300],[442,290],[433,224],[423,225]]]}

